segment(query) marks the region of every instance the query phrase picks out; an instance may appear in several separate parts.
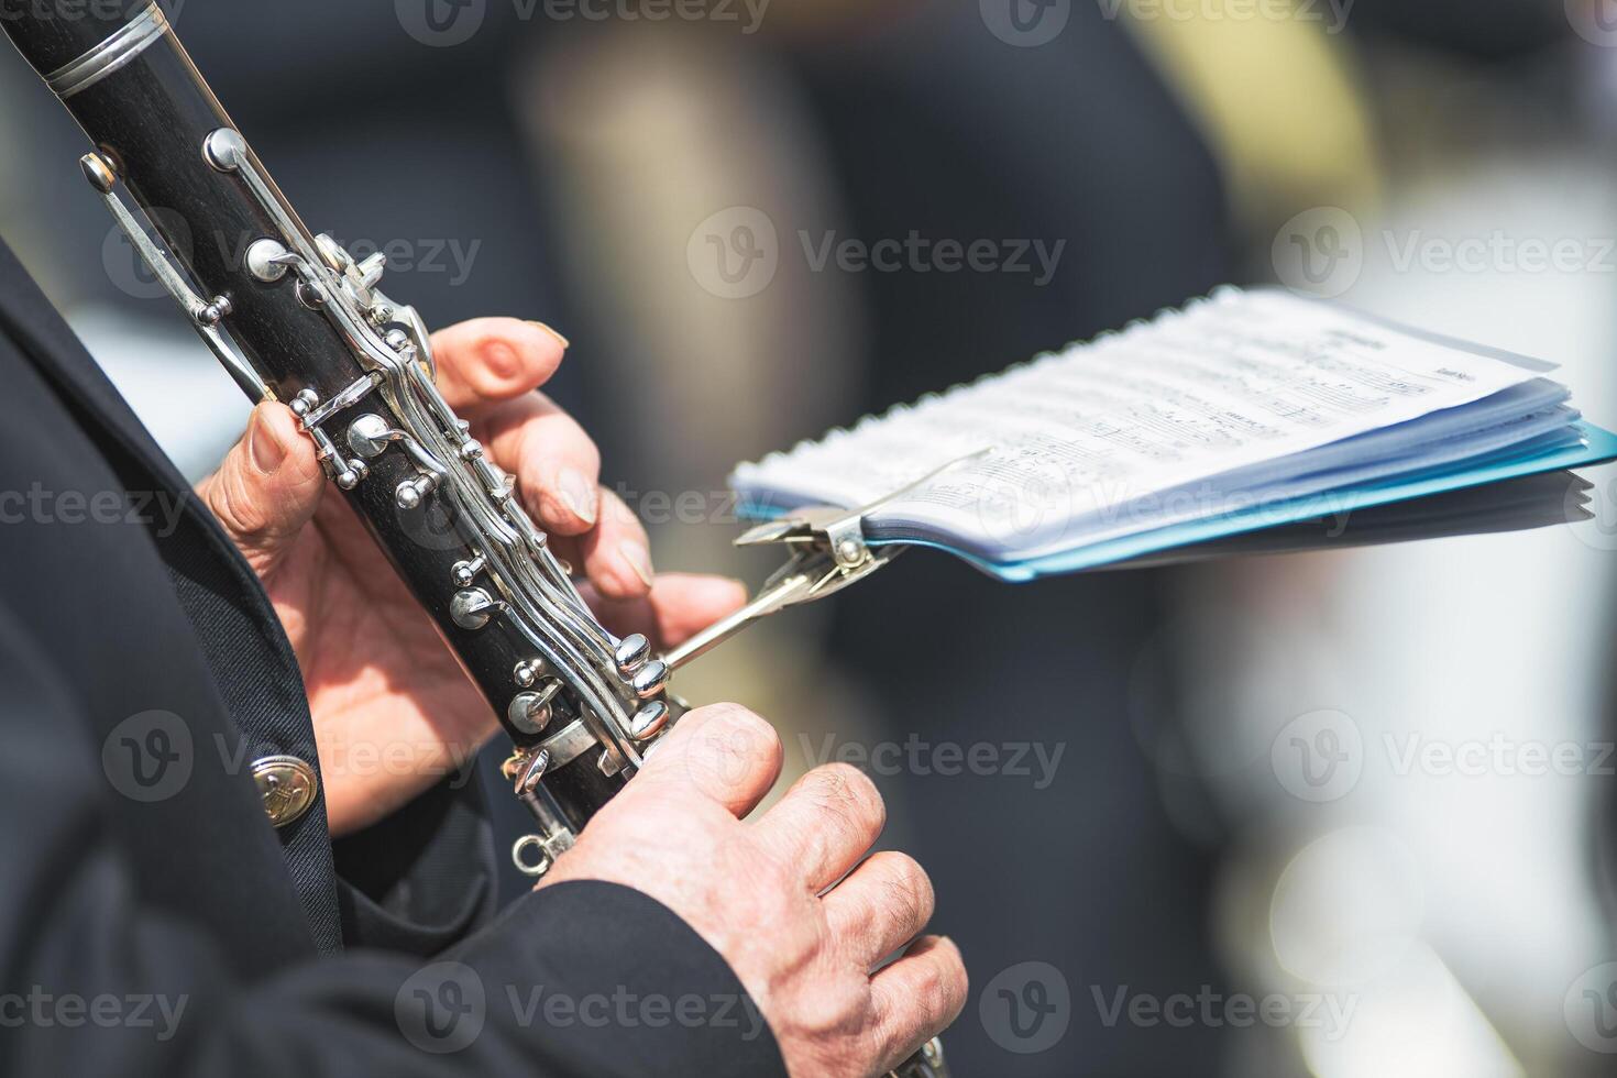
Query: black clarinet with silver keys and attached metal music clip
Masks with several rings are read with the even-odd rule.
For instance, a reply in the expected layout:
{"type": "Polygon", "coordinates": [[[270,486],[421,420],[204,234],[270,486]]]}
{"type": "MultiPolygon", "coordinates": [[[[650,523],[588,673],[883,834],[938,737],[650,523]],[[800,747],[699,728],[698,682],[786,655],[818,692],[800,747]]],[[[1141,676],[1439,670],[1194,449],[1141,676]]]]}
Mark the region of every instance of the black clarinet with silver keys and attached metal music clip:
{"type": "MultiPolygon", "coordinates": [[[[440,396],[427,326],[310,233],[225,115],[157,0],[0,0],[0,23],[95,147],[79,165],[192,328],[252,401],[285,401],[386,559],[509,735],[503,773],[534,816],[513,860],[542,876],[684,713],[674,666],[891,554],[844,527],[679,653],[590,613],[469,425],[440,396]],[[120,194],[128,192],[126,199],[120,194]],[[133,204],[133,208],[131,208],[133,204]],[[241,244],[184,244],[239,236],[241,244]],[[855,550],[857,548],[857,550],[855,550]]],[[[766,525],[766,540],[794,540],[766,525]]],[[[948,1073],[938,1041],[894,1075],[948,1073]]]]}

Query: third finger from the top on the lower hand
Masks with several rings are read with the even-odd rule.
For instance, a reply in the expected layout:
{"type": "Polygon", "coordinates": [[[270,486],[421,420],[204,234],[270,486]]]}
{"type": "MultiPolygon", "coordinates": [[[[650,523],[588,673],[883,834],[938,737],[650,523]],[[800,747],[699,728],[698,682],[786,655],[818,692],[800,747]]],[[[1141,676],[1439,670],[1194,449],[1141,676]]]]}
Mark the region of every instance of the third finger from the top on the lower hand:
{"type": "Polygon", "coordinates": [[[831,933],[867,968],[920,936],[936,895],[920,863],[878,850],[825,897],[831,933]]]}

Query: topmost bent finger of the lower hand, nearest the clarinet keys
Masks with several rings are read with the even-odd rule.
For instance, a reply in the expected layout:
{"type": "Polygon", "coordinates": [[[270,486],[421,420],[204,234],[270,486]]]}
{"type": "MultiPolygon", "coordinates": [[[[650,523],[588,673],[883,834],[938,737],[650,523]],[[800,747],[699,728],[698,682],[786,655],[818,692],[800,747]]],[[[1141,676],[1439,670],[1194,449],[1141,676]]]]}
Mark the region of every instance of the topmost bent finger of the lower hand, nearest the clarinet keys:
{"type": "Polygon", "coordinates": [[[647,760],[627,794],[699,797],[745,816],[781,774],[781,735],[752,711],[716,703],[686,714],[647,760]]]}

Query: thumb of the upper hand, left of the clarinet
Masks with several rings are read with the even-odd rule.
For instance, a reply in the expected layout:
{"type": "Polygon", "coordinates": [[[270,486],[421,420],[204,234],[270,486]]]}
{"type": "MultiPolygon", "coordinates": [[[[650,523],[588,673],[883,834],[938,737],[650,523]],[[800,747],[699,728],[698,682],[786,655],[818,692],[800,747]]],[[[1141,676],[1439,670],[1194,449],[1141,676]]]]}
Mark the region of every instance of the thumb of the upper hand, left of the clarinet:
{"type": "Polygon", "coordinates": [[[199,486],[202,501],[264,579],[314,516],[323,490],[314,443],[291,409],[270,401],[252,409],[241,441],[199,486]]]}

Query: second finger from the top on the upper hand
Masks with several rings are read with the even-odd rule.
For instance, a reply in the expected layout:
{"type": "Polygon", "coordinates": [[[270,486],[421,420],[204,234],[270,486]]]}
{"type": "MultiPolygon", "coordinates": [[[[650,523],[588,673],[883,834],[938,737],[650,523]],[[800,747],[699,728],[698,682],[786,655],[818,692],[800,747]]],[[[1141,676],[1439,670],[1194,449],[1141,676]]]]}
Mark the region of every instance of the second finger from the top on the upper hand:
{"type": "Polygon", "coordinates": [[[553,535],[582,535],[602,512],[602,454],[577,420],[532,393],[488,417],[488,453],[553,535]]]}

